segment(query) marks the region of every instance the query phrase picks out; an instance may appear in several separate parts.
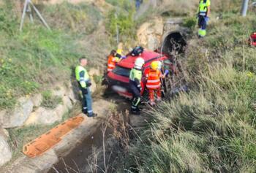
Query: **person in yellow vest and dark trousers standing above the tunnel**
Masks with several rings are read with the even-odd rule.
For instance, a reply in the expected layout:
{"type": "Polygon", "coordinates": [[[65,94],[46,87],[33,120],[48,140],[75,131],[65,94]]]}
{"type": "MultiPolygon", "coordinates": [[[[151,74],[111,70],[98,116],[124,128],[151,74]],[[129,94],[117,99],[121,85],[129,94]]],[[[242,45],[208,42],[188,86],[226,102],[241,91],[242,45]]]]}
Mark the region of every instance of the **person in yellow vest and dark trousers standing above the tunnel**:
{"type": "Polygon", "coordinates": [[[198,7],[198,36],[202,38],[206,36],[206,27],[211,11],[211,0],[200,0],[198,7]]]}

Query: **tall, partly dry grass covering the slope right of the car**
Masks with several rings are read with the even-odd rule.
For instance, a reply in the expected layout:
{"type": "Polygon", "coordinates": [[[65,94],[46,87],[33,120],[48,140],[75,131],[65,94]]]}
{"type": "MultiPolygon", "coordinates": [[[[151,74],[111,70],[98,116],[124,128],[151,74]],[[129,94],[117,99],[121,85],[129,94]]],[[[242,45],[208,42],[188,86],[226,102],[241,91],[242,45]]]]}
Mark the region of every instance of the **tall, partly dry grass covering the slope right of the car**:
{"type": "Polygon", "coordinates": [[[184,67],[191,91],[148,112],[151,123],[118,162],[119,172],[255,172],[256,77],[246,73],[256,73],[256,50],[246,39],[256,19],[252,12],[238,17],[237,2],[223,2],[231,5],[221,8],[223,18],[189,47],[184,67]]]}

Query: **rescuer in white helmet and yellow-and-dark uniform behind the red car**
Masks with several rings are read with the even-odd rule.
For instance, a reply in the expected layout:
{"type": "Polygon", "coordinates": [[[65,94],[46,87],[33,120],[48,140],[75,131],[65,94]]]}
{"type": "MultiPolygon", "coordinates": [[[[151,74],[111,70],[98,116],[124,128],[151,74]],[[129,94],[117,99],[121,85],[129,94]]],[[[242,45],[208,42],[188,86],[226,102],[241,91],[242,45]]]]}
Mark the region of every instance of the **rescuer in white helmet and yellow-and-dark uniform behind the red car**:
{"type": "Polygon", "coordinates": [[[140,115],[140,91],[141,91],[141,78],[142,78],[142,67],[145,64],[143,58],[137,58],[135,60],[135,67],[129,74],[129,87],[132,91],[132,108],[131,111],[135,115],[140,115]]]}

